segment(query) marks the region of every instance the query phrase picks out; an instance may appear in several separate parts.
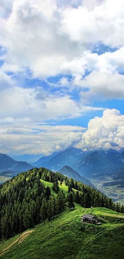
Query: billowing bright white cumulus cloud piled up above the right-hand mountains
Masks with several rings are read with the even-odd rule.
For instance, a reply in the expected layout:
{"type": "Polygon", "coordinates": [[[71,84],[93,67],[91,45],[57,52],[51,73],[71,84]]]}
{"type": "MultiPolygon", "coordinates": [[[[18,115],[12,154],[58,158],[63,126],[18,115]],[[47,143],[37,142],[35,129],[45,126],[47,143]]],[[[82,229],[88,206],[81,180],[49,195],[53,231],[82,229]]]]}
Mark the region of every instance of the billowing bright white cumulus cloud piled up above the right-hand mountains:
{"type": "Polygon", "coordinates": [[[82,134],[78,147],[97,149],[124,146],[124,115],[116,109],[106,109],[102,117],[95,117],[88,123],[88,129],[82,134]]]}

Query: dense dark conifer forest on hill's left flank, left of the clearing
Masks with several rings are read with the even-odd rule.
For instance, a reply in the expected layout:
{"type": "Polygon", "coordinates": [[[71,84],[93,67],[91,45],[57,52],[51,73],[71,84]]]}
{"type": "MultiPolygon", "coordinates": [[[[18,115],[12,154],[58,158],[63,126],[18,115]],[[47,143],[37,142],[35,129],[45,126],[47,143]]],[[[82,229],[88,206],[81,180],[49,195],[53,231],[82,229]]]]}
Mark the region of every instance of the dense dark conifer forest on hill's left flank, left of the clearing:
{"type": "Polygon", "coordinates": [[[51,195],[50,187],[40,180],[43,172],[36,168],[0,185],[0,238],[8,239],[50,220],[64,209],[65,193],[57,191],[57,197],[51,195]]]}

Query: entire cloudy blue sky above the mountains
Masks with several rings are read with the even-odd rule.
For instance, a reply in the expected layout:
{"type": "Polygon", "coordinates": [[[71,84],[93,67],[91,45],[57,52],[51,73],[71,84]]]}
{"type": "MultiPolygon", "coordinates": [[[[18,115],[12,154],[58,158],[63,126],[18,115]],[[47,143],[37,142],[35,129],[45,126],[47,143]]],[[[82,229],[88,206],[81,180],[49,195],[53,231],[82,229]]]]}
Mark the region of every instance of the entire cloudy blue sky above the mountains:
{"type": "Polygon", "coordinates": [[[124,147],[124,1],[0,1],[0,153],[124,147]]]}

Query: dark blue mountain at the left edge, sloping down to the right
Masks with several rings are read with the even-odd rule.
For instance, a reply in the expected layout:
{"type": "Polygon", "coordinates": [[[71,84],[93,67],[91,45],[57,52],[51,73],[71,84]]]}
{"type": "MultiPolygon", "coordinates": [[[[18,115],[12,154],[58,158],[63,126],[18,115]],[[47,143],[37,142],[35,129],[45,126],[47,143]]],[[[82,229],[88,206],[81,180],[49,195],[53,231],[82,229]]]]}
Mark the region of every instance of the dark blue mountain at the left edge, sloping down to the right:
{"type": "Polygon", "coordinates": [[[27,162],[15,161],[10,156],[5,154],[0,154],[0,172],[4,171],[27,171],[32,168],[32,165],[27,162]]]}

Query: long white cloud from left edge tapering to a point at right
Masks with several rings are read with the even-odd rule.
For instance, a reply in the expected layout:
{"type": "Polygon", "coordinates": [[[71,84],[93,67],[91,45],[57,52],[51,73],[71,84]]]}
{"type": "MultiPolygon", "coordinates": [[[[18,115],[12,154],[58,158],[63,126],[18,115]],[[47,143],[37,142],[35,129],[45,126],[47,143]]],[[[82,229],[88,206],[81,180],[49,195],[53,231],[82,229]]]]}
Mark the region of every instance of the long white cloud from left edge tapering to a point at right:
{"type": "Polygon", "coordinates": [[[70,96],[50,94],[41,88],[13,87],[1,91],[0,117],[14,119],[28,117],[32,121],[57,120],[79,117],[83,113],[101,110],[91,106],[83,106],[70,96]]]}

